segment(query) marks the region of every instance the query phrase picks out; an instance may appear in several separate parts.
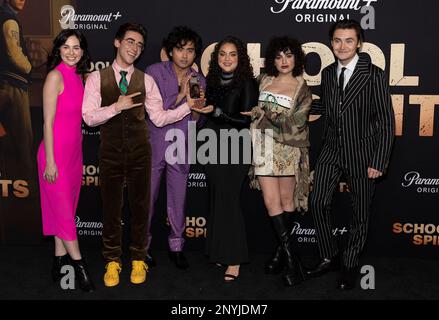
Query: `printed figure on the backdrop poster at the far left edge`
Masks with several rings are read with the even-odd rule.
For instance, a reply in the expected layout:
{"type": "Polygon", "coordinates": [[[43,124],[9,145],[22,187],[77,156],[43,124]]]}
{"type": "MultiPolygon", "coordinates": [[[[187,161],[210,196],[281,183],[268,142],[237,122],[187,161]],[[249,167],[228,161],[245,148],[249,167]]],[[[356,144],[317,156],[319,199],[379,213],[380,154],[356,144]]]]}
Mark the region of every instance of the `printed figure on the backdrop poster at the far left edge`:
{"type": "Polygon", "coordinates": [[[28,87],[32,65],[17,13],[25,0],[0,7],[0,177],[30,179],[34,174],[28,87]]]}

